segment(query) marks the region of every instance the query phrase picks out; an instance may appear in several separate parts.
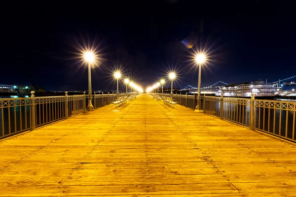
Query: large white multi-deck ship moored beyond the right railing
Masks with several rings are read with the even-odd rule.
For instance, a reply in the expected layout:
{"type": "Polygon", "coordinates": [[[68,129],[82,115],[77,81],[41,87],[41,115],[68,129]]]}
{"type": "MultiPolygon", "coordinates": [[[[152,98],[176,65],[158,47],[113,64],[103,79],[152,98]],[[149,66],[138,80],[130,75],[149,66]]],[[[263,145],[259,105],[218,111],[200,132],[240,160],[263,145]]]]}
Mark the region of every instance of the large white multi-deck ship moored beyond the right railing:
{"type": "Polygon", "coordinates": [[[281,92],[279,84],[267,84],[267,81],[264,80],[229,84],[219,89],[220,90],[216,92],[216,96],[221,96],[223,94],[223,97],[251,97],[252,93],[255,93],[255,97],[268,97],[281,92]]]}

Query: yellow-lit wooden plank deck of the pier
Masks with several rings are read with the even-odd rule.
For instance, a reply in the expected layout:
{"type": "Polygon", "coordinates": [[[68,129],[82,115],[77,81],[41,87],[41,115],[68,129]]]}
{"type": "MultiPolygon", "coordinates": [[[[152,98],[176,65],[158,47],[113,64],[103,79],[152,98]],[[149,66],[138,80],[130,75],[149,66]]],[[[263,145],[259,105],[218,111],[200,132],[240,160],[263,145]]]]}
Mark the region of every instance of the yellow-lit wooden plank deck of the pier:
{"type": "Polygon", "coordinates": [[[147,94],[0,142],[0,197],[296,197],[296,146],[147,94]]]}

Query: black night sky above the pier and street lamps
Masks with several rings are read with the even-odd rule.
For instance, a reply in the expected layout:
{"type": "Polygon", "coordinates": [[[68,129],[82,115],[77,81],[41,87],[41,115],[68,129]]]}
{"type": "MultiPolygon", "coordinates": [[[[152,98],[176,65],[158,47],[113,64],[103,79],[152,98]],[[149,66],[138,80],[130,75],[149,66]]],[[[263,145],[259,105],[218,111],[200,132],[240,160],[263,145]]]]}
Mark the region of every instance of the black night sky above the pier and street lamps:
{"type": "Polygon", "coordinates": [[[174,87],[197,87],[184,39],[213,51],[202,87],[296,74],[296,16],[286,1],[46,2],[2,7],[0,84],[28,84],[24,64],[47,91],[87,89],[87,70],[72,59],[83,40],[100,44],[106,59],[92,70],[94,90],[114,89],[116,66],[144,88],[172,67],[174,87]]]}

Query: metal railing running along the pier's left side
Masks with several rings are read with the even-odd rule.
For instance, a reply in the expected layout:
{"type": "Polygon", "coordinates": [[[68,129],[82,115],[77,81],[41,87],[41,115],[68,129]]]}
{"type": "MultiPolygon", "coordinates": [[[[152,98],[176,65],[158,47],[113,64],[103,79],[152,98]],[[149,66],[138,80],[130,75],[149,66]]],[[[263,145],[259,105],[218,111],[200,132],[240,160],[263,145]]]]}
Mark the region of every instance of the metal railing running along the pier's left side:
{"type": "MultiPolygon", "coordinates": [[[[23,131],[34,130],[58,120],[85,112],[87,95],[0,99],[0,139],[23,131]]],[[[125,96],[121,93],[120,96],[125,96]]],[[[116,94],[92,96],[94,108],[110,104],[116,94]]]]}

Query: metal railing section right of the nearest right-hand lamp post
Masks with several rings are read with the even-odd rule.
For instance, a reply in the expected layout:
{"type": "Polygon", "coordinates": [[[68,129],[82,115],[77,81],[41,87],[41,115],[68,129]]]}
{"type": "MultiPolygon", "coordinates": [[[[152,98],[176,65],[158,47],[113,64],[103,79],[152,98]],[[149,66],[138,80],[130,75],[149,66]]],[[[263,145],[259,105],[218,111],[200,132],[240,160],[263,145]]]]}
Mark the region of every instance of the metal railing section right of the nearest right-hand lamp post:
{"type": "MultiPolygon", "coordinates": [[[[254,96],[254,95],[253,95],[254,96]]],[[[203,112],[296,142],[296,102],[204,96],[203,112]]]]}

